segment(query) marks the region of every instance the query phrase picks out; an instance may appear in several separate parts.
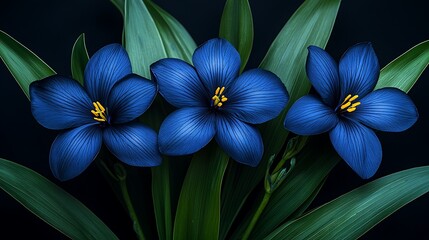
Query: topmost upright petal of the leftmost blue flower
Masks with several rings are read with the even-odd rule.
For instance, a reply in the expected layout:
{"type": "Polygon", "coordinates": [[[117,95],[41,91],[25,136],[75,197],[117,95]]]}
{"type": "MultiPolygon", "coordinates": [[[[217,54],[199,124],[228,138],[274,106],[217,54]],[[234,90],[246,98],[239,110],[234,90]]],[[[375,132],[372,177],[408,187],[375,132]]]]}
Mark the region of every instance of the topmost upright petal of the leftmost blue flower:
{"type": "Polygon", "coordinates": [[[131,73],[131,62],[125,49],[110,44],[98,50],[85,68],[85,87],[93,101],[106,105],[113,85],[131,73]]]}

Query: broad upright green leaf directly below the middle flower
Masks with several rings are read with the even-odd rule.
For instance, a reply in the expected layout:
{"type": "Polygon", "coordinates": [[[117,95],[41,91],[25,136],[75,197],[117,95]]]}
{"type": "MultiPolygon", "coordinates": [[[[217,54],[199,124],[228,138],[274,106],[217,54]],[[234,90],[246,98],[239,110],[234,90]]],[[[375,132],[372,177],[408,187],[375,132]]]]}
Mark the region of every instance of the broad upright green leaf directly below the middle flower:
{"type": "Polygon", "coordinates": [[[228,156],[215,143],[196,153],[183,182],[174,239],[218,239],[220,193],[228,156]]]}

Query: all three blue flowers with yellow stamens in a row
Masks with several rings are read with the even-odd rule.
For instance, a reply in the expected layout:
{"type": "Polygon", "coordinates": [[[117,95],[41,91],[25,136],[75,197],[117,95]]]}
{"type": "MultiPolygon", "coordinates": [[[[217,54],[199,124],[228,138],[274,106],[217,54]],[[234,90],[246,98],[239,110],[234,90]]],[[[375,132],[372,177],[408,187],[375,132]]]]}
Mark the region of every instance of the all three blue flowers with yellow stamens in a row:
{"type": "MultiPolygon", "coordinates": [[[[394,88],[374,90],[380,72],[369,43],[350,48],[339,65],[323,49],[309,47],[307,76],[317,95],[297,100],[285,127],[299,135],[329,132],[333,147],[362,178],[378,169],[381,144],[374,128],[403,131],[418,113],[394,88]]],[[[240,56],[226,40],[212,39],[194,53],[193,66],[173,58],[151,65],[154,81],[132,73],[119,44],[103,47],[89,60],[84,86],[54,75],[30,85],[31,109],[44,127],[65,130],[52,144],[50,166],[60,180],[82,173],[102,143],[132,166],[157,166],[161,154],[192,154],[213,138],[234,160],[256,166],[264,146],[255,124],[277,117],[288,92],[273,73],[253,69],[239,75],[240,56]],[[157,92],[177,108],[159,134],[136,122],[157,92]]]]}

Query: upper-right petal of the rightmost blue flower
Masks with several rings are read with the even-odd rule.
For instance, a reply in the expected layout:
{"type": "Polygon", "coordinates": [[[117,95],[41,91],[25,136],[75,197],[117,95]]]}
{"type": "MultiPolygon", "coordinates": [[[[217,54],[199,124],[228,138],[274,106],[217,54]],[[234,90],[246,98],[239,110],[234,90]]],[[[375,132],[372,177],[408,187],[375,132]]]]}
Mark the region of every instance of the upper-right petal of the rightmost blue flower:
{"type": "Polygon", "coordinates": [[[340,60],[340,103],[348,95],[364,97],[377,83],[380,66],[371,43],[349,48],[340,60]]]}

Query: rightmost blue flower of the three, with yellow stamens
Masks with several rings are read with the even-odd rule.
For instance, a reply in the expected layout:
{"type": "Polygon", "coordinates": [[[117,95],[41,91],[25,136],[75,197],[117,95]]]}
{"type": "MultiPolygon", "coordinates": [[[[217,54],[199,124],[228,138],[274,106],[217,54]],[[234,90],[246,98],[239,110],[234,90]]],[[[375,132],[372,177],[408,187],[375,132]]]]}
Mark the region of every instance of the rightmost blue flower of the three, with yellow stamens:
{"type": "Polygon", "coordinates": [[[417,109],[399,89],[373,91],[380,66],[370,43],[351,47],[339,66],[323,49],[308,50],[307,76],[319,95],[298,99],[286,115],[285,127],[300,135],[329,132],[341,158],[360,177],[370,178],[382,158],[371,128],[404,131],[417,121],[417,109]]]}

